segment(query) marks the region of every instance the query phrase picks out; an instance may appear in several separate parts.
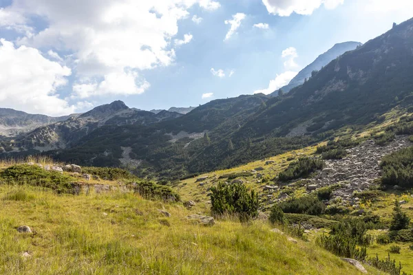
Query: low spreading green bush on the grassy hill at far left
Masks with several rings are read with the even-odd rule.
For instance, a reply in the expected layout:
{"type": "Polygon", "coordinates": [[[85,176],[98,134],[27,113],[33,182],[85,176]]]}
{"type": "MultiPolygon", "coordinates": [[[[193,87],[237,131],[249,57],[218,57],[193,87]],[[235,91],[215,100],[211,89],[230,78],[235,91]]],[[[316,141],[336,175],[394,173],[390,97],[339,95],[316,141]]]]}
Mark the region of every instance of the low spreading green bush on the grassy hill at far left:
{"type": "Polygon", "coordinates": [[[62,175],[54,170],[44,170],[39,166],[21,164],[6,168],[0,173],[0,177],[8,184],[39,186],[51,188],[56,192],[73,192],[72,182],[74,179],[62,175]]]}

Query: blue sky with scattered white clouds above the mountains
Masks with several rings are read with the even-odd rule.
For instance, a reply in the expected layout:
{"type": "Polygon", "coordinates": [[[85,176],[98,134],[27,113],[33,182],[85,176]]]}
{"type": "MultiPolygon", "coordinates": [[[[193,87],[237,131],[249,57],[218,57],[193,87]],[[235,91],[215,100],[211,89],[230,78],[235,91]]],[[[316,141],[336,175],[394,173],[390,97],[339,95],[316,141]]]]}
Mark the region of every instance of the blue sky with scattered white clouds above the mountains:
{"type": "Polygon", "coordinates": [[[411,0],[0,0],[0,107],[57,116],[270,94],[335,43],[411,17],[411,0]]]}

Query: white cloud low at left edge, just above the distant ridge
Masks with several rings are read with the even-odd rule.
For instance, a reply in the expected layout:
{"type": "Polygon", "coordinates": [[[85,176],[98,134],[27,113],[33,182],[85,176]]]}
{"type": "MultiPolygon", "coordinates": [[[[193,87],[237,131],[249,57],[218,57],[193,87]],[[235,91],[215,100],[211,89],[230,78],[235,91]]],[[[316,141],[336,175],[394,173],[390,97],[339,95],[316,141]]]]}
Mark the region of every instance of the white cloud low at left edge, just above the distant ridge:
{"type": "Polygon", "coordinates": [[[56,90],[67,84],[71,69],[45,58],[32,47],[14,47],[0,39],[0,104],[30,113],[62,115],[73,113],[56,90]],[[6,66],[5,66],[6,65],[6,66]]]}

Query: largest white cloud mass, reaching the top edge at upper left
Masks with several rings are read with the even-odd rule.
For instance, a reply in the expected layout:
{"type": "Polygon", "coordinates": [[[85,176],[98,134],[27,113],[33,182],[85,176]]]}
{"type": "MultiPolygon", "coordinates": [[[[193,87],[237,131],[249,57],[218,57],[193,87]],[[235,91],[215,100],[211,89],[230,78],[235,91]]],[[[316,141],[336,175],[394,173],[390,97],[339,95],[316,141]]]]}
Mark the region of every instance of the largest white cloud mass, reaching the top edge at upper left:
{"type": "Polygon", "coordinates": [[[138,72],[171,65],[175,47],[191,41],[173,38],[193,5],[220,8],[211,0],[15,0],[0,9],[0,27],[21,30],[18,45],[51,50],[53,60],[61,62],[57,52],[72,56],[75,97],[139,94],[149,83],[138,72]],[[47,28],[32,33],[32,17],[47,28]]]}

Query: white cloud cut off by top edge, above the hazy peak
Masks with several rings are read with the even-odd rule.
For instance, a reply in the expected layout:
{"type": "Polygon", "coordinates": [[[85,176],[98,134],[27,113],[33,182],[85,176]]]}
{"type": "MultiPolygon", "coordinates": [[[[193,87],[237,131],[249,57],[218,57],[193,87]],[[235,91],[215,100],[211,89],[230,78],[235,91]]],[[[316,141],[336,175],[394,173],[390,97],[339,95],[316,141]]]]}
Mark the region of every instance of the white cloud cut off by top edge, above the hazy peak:
{"type": "Polygon", "coordinates": [[[293,12],[304,15],[312,14],[321,5],[332,10],[343,4],[344,0],[262,0],[262,3],[269,13],[289,17],[293,12]]]}

